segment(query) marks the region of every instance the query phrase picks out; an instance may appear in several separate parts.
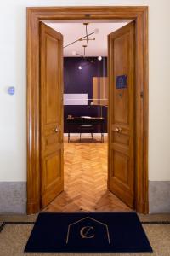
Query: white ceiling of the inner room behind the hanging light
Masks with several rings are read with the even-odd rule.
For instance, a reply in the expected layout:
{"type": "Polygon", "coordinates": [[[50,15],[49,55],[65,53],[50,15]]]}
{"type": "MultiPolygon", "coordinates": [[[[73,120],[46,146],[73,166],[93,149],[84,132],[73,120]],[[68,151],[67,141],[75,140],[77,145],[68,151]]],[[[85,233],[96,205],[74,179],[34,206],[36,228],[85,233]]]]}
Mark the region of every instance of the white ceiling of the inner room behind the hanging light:
{"type": "MultiPolygon", "coordinates": [[[[46,23],[48,26],[54,28],[54,30],[60,32],[64,36],[64,46],[71,42],[85,36],[85,26],[83,23],[46,23]]],[[[90,36],[89,38],[95,38],[94,41],[89,41],[89,45],[86,48],[86,56],[107,56],[107,35],[116,31],[122,26],[125,26],[127,22],[122,23],[89,23],[88,33],[94,32],[94,29],[98,28],[99,33],[90,36]]],[[[83,55],[82,45],[86,44],[86,41],[77,42],[64,48],[65,57],[74,57],[72,51],[83,55]]]]}

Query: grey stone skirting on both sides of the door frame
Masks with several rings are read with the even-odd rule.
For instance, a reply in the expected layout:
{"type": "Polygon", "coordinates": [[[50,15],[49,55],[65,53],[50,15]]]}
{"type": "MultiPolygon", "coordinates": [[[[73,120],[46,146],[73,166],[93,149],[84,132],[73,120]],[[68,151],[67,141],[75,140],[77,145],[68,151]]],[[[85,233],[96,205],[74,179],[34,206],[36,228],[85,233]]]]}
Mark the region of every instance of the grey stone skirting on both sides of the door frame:
{"type": "MultiPolygon", "coordinates": [[[[150,181],[149,212],[170,212],[170,181],[150,181]]],[[[0,213],[26,213],[26,182],[0,182],[0,213]]]]}

